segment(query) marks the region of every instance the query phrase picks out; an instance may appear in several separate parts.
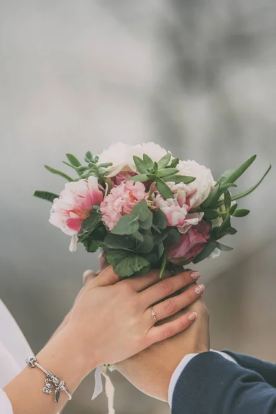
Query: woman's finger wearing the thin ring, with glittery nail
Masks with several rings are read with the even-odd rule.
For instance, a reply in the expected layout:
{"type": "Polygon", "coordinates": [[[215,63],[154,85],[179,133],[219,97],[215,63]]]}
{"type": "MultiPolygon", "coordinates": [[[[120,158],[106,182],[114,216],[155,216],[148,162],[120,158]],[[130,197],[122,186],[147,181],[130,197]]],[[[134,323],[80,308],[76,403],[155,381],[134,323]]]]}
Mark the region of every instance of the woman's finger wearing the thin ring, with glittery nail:
{"type": "Polygon", "coordinates": [[[146,317],[150,323],[150,326],[153,326],[157,321],[166,319],[166,317],[175,315],[175,313],[181,311],[181,309],[186,308],[193,304],[199,297],[201,297],[204,292],[204,285],[196,285],[185,290],[185,292],[180,293],[177,296],[170,297],[164,302],[152,306],[146,310],[146,317]],[[152,315],[152,309],[155,312],[155,317],[152,315]]]}

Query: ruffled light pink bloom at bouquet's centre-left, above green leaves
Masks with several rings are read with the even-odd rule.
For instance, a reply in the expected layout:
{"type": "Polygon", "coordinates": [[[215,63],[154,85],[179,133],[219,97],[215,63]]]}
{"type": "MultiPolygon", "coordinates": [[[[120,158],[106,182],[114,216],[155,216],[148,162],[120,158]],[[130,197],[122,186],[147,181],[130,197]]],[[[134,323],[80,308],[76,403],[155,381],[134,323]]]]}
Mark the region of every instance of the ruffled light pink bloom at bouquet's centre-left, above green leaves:
{"type": "Polygon", "coordinates": [[[132,208],[139,201],[148,199],[144,184],[134,181],[122,182],[113,187],[108,196],[101,202],[101,213],[103,221],[112,230],[121,216],[132,212],[132,208]]]}

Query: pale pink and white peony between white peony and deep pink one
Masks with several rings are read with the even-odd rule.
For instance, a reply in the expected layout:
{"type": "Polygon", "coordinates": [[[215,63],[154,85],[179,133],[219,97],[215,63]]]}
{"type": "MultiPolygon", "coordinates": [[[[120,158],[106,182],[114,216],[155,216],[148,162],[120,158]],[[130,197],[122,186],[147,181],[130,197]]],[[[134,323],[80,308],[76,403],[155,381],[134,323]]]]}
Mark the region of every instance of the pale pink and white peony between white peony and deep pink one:
{"type": "Polygon", "coordinates": [[[197,190],[186,184],[167,183],[173,193],[172,199],[152,194],[155,206],[160,208],[168,220],[168,226],[176,226],[179,233],[186,233],[192,226],[199,224],[204,213],[190,213],[197,190]]]}

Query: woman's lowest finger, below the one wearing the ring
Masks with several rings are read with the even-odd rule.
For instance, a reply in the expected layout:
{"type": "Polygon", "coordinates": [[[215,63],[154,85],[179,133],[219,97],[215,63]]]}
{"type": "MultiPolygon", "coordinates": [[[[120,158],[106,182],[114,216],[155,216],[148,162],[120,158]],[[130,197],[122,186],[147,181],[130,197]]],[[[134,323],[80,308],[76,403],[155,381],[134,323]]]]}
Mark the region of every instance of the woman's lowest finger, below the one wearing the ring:
{"type": "Polygon", "coordinates": [[[153,326],[153,328],[148,331],[147,342],[148,346],[155,344],[155,342],[163,341],[168,339],[177,333],[187,329],[193,322],[197,319],[197,313],[185,313],[184,315],[179,316],[172,322],[168,322],[161,326],[153,326]]]}

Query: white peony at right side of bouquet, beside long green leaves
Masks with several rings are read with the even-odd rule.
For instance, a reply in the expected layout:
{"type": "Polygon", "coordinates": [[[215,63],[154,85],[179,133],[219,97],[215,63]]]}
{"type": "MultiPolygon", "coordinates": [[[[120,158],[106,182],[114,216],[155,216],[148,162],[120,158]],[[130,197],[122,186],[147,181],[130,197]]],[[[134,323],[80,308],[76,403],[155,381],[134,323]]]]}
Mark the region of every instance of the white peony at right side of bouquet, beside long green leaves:
{"type": "Polygon", "coordinates": [[[190,188],[197,188],[197,193],[195,193],[193,200],[191,200],[193,208],[200,206],[208,198],[213,186],[215,186],[212,172],[206,166],[201,166],[196,161],[191,161],[190,159],[188,161],[179,161],[177,168],[179,175],[195,177],[195,181],[188,184],[188,186],[190,188]]]}

